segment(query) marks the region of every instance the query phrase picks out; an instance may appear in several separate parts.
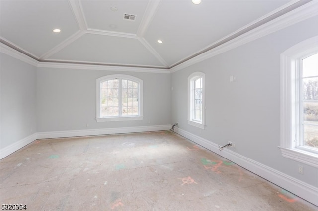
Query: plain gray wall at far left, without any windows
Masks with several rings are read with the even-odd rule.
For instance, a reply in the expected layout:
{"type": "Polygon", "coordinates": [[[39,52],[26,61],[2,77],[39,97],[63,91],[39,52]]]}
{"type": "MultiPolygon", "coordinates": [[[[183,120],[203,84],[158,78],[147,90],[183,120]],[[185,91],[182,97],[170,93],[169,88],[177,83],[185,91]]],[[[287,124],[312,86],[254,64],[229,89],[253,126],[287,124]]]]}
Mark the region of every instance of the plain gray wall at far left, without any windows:
{"type": "Polygon", "coordinates": [[[36,67],[0,54],[0,147],[36,133],[36,67]]]}

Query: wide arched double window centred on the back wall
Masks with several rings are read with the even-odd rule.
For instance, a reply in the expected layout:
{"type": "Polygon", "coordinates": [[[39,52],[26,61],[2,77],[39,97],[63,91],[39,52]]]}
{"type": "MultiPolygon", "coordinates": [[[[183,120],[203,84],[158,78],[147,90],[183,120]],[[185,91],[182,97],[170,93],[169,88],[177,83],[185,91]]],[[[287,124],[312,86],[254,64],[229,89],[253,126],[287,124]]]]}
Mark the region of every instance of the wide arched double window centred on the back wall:
{"type": "Polygon", "coordinates": [[[97,121],[140,120],[143,118],[143,81],[129,75],[97,79],[97,121]]]}

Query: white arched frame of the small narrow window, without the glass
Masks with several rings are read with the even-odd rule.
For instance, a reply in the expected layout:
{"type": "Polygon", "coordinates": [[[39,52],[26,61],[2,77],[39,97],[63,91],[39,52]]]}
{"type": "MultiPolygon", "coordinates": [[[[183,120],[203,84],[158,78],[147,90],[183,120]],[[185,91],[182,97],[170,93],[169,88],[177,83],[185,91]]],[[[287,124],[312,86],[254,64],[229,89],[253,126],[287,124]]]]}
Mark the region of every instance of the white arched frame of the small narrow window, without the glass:
{"type": "Polygon", "coordinates": [[[188,124],[205,129],[205,74],[203,72],[194,72],[188,77],[188,124]],[[202,120],[196,121],[193,120],[193,107],[194,107],[194,82],[202,78],[202,97],[201,97],[201,105],[202,105],[202,120]]]}

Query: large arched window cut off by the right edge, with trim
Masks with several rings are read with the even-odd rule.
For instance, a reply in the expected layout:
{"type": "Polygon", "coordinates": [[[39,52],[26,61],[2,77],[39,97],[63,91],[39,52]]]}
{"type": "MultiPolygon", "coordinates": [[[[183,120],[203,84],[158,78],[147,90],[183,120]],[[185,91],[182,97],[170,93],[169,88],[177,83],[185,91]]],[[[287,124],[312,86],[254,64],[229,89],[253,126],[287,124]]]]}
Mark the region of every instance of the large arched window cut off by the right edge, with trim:
{"type": "Polygon", "coordinates": [[[281,54],[281,151],[318,167],[318,36],[281,54]]]}

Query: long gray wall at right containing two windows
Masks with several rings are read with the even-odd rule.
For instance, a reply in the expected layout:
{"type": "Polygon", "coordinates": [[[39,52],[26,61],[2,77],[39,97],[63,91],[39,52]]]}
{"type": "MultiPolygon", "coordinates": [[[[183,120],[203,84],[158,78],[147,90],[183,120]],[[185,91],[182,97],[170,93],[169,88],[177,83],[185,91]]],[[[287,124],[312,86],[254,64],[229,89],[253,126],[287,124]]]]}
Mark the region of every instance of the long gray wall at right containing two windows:
{"type": "Polygon", "coordinates": [[[318,187],[318,169],[283,158],[280,149],[280,53],[318,35],[318,17],[174,72],[172,123],[240,155],[318,187]],[[187,77],[206,74],[206,129],[187,123],[187,77]],[[230,83],[230,75],[237,81],[230,83]]]}

